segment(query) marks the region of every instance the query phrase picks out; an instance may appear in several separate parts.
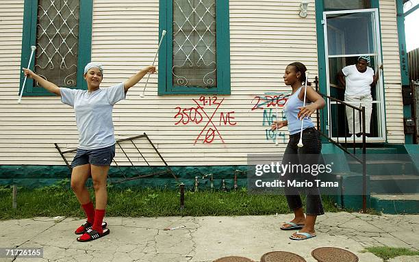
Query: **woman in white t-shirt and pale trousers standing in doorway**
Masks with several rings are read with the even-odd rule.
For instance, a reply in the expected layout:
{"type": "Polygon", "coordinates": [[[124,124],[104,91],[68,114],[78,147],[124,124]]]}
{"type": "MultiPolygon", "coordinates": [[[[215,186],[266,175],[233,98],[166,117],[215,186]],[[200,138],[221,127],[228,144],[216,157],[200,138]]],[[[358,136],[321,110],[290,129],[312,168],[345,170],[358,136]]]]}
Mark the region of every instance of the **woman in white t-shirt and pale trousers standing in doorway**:
{"type": "MultiPolygon", "coordinates": [[[[374,70],[368,66],[369,64],[369,56],[360,56],[357,64],[345,66],[338,73],[338,80],[345,88],[344,101],[355,107],[365,107],[366,133],[368,134],[370,133],[372,113],[371,87],[375,86],[379,79],[379,70],[374,74],[374,70]]],[[[382,65],[380,69],[383,69],[382,65]]],[[[346,107],[346,118],[348,119],[348,129],[351,136],[355,133],[359,137],[361,135],[361,121],[358,112],[354,114],[351,107],[346,107]]]]}

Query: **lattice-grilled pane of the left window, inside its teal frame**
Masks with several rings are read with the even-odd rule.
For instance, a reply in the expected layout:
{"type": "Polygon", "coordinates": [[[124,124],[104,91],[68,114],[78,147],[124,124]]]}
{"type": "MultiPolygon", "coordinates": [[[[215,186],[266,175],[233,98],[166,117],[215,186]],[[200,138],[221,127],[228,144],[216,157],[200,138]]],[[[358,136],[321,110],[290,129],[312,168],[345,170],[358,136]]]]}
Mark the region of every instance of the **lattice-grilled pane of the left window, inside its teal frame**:
{"type": "Polygon", "coordinates": [[[58,86],[77,86],[79,0],[39,0],[35,72],[58,86]]]}

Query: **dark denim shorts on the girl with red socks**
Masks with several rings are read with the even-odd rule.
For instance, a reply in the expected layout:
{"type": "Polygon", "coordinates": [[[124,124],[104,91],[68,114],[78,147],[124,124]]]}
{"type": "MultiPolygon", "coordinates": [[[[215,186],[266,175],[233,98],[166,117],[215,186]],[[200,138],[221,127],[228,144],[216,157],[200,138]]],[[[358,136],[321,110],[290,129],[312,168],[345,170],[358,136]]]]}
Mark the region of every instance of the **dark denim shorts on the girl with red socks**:
{"type": "Polygon", "coordinates": [[[71,167],[86,165],[90,163],[94,166],[110,166],[115,157],[115,145],[97,149],[80,149],[71,162],[71,167]]]}

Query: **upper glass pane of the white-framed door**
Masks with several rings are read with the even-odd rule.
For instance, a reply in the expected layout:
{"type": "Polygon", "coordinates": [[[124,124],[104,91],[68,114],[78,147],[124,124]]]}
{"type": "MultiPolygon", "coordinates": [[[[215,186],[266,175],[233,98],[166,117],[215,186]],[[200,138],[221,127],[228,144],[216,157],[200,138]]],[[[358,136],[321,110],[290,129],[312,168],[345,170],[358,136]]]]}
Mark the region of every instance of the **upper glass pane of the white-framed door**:
{"type": "Polygon", "coordinates": [[[327,15],[329,55],[374,53],[374,25],[369,12],[327,15]]]}

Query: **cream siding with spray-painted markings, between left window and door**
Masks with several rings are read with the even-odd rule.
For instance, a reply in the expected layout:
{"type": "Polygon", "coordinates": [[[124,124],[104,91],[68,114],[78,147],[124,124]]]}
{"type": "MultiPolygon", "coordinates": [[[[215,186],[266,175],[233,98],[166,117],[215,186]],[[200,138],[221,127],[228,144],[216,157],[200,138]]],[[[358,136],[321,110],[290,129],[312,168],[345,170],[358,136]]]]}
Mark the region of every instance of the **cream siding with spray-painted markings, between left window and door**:
{"type": "MultiPolygon", "coordinates": [[[[157,96],[156,76],[147,86],[147,99],[139,96],[142,81],[129,91],[126,101],[116,105],[115,133],[148,133],[173,165],[246,164],[249,153],[283,150],[283,140],[279,148],[266,140],[264,110],[252,110],[252,101],[265,92],[290,92],[282,81],[290,62],[302,61],[316,75],[315,16],[311,12],[308,18],[299,18],[299,3],[230,1],[231,95],[217,96],[218,101],[225,101],[213,118],[225,143],[217,136],[210,144],[203,144],[202,139],[194,143],[207,123],[205,116],[199,125],[175,125],[176,107],[194,107],[192,99],[200,96],[157,96]],[[234,112],[237,124],[218,127],[219,112],[234,112]]],[[[93,21],[92,60],[105,65],[103,85],[122,81],[151,63],[158,41],[157,1],[96,1],[93,21]]],[[[211,116],[214,107],[205,111],[211,116]]]]}

